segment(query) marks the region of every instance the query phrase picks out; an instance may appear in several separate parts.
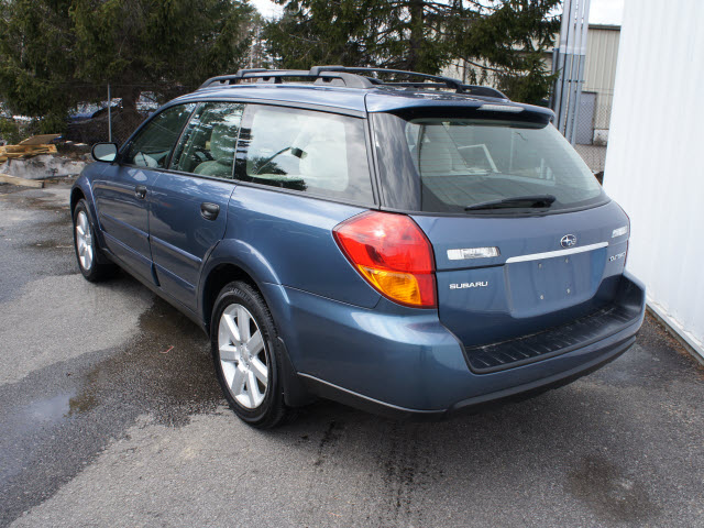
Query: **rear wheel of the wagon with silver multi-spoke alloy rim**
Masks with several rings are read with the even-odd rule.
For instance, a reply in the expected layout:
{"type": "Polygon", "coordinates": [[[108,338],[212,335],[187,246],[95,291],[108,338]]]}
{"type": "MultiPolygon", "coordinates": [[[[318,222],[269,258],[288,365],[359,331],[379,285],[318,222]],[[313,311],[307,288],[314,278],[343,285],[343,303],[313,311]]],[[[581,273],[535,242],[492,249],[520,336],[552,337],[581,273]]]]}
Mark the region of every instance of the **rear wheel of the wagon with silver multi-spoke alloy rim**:
{"type": "Polygon", "coordinates": [[[248,283],[233,282],[220,292],[212,310],[210,343],[220,388],[234,414],[260,429],[278,426],[289,414],[284,403],[282,352],[266,302],[248,283]]]}

